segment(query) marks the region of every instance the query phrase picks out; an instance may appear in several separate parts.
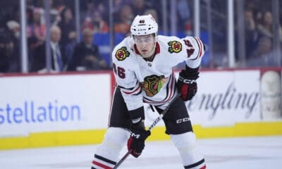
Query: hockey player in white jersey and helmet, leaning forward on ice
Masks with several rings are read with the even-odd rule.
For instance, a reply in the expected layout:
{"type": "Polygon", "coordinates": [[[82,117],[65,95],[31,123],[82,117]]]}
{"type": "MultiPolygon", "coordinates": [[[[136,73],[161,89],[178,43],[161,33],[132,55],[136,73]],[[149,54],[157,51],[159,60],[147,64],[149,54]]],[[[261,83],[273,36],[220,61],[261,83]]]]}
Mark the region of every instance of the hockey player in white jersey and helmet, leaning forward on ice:
{"type": "Polygon", "coordinates": [[[117,85],[109,128],[94,154],[92,169],[113,168],[126,143],[133,156],[140,156],[150,135],[145,130],[143,103],[151,104],[161,113],[178,92],[181,97],[173,101],[163,118],[166,134],[178,149],[184,168],[206,168],[184,102],[197,92],[204,44],[198,37],[157,35],[158,25],[152,15],[137,15],[130,32],[131,36],[112,53],[117,85]],[[173,67],[183,61],[186,66],[176,82],[173,67]]]}

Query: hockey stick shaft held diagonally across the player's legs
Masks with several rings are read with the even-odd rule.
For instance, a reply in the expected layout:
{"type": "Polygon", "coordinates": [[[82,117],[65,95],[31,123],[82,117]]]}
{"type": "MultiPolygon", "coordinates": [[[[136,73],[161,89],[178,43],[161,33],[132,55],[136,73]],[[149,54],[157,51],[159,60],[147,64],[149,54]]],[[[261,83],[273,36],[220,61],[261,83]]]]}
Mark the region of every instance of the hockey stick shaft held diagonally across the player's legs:
{"type": "MultiPolygon", "coordinates": [[[[168,112],[169,108],[171,108],[171,105],[174,103],[174,101],[176,101],[176,99],[178,99],[178,97],[180,96],[181,94],[178,94],[175,98],[172,99],[171,101],[171,104],[168,104],[168,106],[166,107],[166,109],[164,109],[164,111],[159,115],[158,118],[156,118],[156,120],[154,120],[154,122],[152,123],[152,125],[150,125],[149,127],[149,131],[152,130],[153,127],[155,127],[157,125],[157,123],[159,123],[159,121],[164,117],[164,115],[168,112]]],[[[130,149],[124,156],[123,158],[121,158],[120,161],[118,161],[118,163],[116,163],[116,165],[114,166],[113,169],[116,169],[119,167],[119,165],[121,165],[121,163],[123,163],[123,161],[125,161],[126,158],[128,158],[128,156],[130,155],[130,153],[132,152],[133,150],[130,149]]]]}

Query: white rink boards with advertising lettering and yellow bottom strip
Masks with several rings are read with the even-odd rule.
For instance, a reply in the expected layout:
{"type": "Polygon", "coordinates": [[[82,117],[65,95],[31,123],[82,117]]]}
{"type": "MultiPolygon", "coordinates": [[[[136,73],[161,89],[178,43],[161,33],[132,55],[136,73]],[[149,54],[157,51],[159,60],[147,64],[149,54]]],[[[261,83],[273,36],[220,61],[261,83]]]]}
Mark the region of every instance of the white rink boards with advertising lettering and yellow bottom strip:
{"type": "MultiPolygon", "coordinates": [[[[203,70],[186,106],[198,138],[282,134],[281,68],[203,70]]],[[[0,77],[0,149],[98,144],[106,131],[109,72],[0,77]]],[[[157,117],[147,105],[146,125],[157,117]]],[[[149,140],[169,139],[159,123],[149,140]]]]}

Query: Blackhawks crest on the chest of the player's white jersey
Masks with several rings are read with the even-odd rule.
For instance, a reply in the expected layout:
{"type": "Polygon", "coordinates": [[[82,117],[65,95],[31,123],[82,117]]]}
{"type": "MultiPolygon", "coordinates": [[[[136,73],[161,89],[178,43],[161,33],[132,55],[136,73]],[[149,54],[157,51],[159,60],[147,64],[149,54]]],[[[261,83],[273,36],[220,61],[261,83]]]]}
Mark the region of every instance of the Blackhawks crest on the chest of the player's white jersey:
{"type": "Polygon", "coordinates": [[[144,82],[141,83],[141,87],[142,90],[146,92],[147,96],[154,96],[161,90],[161,87],[164,86],[165,82],[166,78],[164,75],[150,75],[145,77],[144,82]]]}

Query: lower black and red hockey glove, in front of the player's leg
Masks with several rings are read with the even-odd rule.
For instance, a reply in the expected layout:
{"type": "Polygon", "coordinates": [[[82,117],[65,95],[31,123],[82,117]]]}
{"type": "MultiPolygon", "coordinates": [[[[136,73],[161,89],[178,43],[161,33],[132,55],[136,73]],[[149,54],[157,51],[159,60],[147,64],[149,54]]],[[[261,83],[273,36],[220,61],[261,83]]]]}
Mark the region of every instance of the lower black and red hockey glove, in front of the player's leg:
{"type": "Polygon", "coordinates": [[[133,128],[128,139],[128,151],[131,150],[131,154],[135,156],[135,158],[141,155],[142,150],[145,147],[145,139],[147,139],[150,134],[151,132],[149,130],[145,130],[143,121],[133,124],[133,128]]]}

